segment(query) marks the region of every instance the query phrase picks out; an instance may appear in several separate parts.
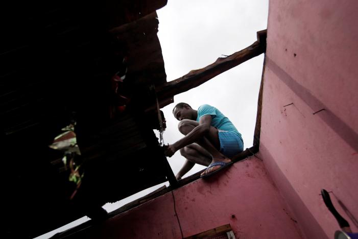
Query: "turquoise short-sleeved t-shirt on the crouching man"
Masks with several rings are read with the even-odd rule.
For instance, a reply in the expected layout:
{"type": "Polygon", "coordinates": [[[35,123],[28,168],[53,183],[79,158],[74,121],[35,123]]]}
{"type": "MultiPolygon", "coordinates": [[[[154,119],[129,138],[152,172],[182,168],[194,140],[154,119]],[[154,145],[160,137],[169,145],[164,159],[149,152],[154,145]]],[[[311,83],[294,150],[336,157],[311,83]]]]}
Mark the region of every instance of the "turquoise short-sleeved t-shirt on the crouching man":
{"type": "Polygon", "coordinates": [[[219,130],[225,130],[225,131],[232,131],[233,133],[237,134],[241,139],[241,133],[237,131],[235,126],[231,123],[231,121],[226,117],[223,113],[220,112],[215,107],[212,107],[211,105],[201,105],[198,108],[198,117],[197,122],[199,122],[199,119],[204,115],[211,115],[211,126],[219,129],[219,130]]]}

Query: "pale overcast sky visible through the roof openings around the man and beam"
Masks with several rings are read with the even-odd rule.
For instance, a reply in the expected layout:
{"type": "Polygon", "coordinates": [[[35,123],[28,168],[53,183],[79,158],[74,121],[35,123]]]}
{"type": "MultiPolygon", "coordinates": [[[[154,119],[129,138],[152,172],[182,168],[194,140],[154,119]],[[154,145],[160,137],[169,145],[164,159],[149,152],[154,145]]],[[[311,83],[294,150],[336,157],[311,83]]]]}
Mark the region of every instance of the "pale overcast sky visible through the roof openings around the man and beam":
{"type": "MultiPolygon", "coordinates": [[[[213,63],[222,55],[231,55],[251,45],[256,40],[256,32],[267,28],[268,4],[268,0],[169,0],[164,8],[157,11],[158,37],[167,81],[175,80],[190,70],[213,63]]],[[[250,148],[263,61],[264,56],[260,55],[197,88],[176,95],[174,103],[162,109],[167,126],[163,134],[165,144],[173,144],[183,137],[178,131],[178,121],[172,110],[175,104],[185,102],[194,109],[202,104],[217,107],[242,133],[244,149],[250,148]]],[[[179,151],[168,159],[174,174],[177,174],[185,159],[179,151]]],[[[196,165],[184,177],[204,168],[196,165]]],[[[113,211],[162,185],[148,188],[116,203],[106,204],[104,208],[113,211]]],[[[38,238],[49,238],[58,231],[87,220],[84,217],[38,238]]]]}

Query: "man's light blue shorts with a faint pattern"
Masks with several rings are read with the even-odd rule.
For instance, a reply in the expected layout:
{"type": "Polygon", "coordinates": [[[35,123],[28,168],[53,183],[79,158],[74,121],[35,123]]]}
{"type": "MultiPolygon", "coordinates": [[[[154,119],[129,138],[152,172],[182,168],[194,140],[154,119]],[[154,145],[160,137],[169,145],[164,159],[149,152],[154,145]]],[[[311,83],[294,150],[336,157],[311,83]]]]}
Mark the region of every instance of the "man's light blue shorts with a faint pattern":
{"type": "Polygon", "coordinates": [[[220,152],[232,157],[244,150],[244,142],[240,136],[231,131],[219,131],[220,152]]]}

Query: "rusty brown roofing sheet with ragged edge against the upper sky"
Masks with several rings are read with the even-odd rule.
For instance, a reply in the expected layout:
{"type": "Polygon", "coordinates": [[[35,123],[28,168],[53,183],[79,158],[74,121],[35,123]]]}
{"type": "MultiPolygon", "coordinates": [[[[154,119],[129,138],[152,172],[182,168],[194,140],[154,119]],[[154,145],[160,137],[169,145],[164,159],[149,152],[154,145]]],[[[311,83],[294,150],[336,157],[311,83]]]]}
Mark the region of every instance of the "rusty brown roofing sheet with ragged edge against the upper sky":
{"type": "Polygon", "coordinates": [[[109,30],[116,38],[118,51],[127,57],[126,76],[131,79],[132,85],[166,84],[164,60],[157,36],[158,23],[154,11],[109,30]]]}

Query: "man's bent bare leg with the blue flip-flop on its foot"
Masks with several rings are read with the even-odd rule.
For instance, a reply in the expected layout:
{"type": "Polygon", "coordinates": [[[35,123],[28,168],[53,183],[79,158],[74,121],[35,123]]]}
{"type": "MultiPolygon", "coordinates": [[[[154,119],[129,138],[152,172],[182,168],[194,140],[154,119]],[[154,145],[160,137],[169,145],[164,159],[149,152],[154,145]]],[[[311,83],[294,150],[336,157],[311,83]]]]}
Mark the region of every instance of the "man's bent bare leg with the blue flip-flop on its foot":
{"type": "MultiPolygon", "coordinates": [[[[192,120],[182,120],[179,123],[179,131],[187,135],[189,132],[191,132],[195,127],[197,127],[199,123],[197,121],[192,120]]],[[[212,157],[211,163],[213,162],[225,162],[229,163],[231,160],[220,153],[220,140],[219,140],[219,134],[218,129],[210,126],[209,133],[203,137],[201,140],[197,141],[197,144],[203,147],[205,150],[207,150],[212,157]]],[[[212,171],[215,171],[219,169],[221,166],[213,166],[210,169],[205,170],[202,175],[210,173],[212,171]]]]}

